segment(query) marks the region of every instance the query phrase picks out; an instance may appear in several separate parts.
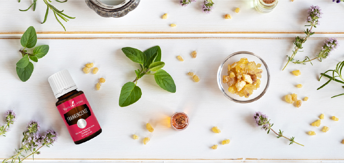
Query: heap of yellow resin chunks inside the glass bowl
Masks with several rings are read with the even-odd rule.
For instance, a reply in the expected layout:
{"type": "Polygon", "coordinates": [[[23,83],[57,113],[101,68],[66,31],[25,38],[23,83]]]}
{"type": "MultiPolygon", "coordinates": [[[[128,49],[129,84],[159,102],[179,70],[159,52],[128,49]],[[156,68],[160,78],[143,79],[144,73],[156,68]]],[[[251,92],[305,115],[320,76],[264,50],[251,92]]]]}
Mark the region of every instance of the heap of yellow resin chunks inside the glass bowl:
{"type": "Polygon", "coordinates": [[[249,62],[247,58],[228,65],[228,76],[223,76],[223,83],[227,83],[228,91],[240,97],[248,98],[253,94],[253,90],[259,88],[262,69],[258,69],[261,64],[254,61],[249,62]]]}

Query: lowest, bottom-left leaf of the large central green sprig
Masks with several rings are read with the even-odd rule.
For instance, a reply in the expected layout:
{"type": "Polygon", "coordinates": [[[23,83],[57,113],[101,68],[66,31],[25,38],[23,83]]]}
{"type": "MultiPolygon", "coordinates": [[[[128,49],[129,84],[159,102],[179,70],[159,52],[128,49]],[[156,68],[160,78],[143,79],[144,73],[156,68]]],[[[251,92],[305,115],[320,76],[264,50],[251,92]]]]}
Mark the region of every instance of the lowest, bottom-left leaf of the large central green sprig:
{"type": "Polygon", "coordinates": [[[134,104],[141,98],[141,89],[135,85],[135,83],[129,81],[124,84],[119,95],[119,106],[126,107],[134,104]]]}

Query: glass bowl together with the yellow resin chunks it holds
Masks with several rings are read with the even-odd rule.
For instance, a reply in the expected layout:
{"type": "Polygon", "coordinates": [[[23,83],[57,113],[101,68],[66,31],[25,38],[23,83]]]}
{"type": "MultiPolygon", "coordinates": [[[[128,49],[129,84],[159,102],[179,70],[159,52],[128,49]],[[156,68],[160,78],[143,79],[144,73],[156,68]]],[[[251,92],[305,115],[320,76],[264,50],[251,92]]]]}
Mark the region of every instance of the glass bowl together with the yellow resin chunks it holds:
{"type": "MultiPolygon", "coordinates": [[[[255,68],[251,68],[251,69],[255,69],[255,68]]],[[[221,65],[220,65],[220,67],[218,69],[218,72],[217,72],[217,83],[218,83],[218,86],[219,86],[220,90],[222,91],[222,93],[228,99],[230,99],[230,100],[232,100],[234,102],[238,102],[238,103],[249,103],[249,102],[253,102],[253,101],[258,100],[260,97],[262,97],[265,94],[266,90],[269,87],[269,82],[270,82],[270,73],[269,73],[268,66],[266,65],[266,63],[264,62],[264,60],[262,58],[260,58],[259,56],[257,56],[254,53],[251,53],[251,52],[244,52],[244,51],[242,51],[242,52],[236,52],[236,53],[233,53],[233,54],[229,55],[221,63],[221,65]],[[243,63],[241,63],[240,61],[243,62],[243,63]],[[253,74],[252,72],[250,73],[249,72],[250,69],[247,68],[246,75],[244,76],[243,74],[241,74],[241,76],[239,76],[239,78],[241,78],[241,79],[238,80],[238,76],[237,75],[239,75],[239,74],[234,72],[234,70],[236,70],[236,65],[234,65],[234,64],[235,63],[239,63],[239,62],[240,62],[240,64],[243,64],[242,65],[243,69],[248,67],[250,63],[255,62],[255,64],[260,66],[260,67],[257,67],[257,70],[254,70],[254,71],[258,71],[259,70],[259,71],[262,71],[262,72],[261,73],[258,72],[258,74],[256,72],[256,74],[253,74]],[[228,69],[228,65],[229,66],[232,65],[233,69],[229,70],[228,69]],[[235,81],[232,81],[232,83],[230,83],[230,84],[233,84],[233,85],[231,85],[231,87],[234,88],[234,89],[230,89],[230,86],[228,86],[229,85],[228,82],[224,81],[227,78],[228,78],[228,80],[230,80],[230,72],[233,72],[232,73],[232,77],[233,77],[233,75],[235,76],[234,78],[232,78],[232,80],[236,79],[235,81]],[[255,75],[256,75],[257,78],[254,77],[255,75]],[[225,78],[224,78],[224,76],[225,76],[225,78]],[[226,77],[226,76],[228,76],[228,77],[226,77]],[[247,78],[246,79],[247,81],[244,80],[243,77],[247,78]],[[251,80],[255,80],[255,81],[252,81],[252,84],[251,84],[250,83],[251,82],[250,79],[251,80]],[[242,85],[244,85],[243,88],[241,88],[239,86],[241,84],[240,82],[242,83],[242,85]],[[259,86],[257,84],[259,84],[259,86]],[[236,87],[236,85],[238,87],[236,87]],[[245,89],[245,86],[247,86],[248,89],[245,89]],[[255,88],[253,88],[253,87],[255,87],[255,88]],[[241,92],[239,90],[239,92],[238,92],[238,89],[240,89],[240,88],[241,89],[245,89],[245,93],[244,93],[244,90],[241,90],[241,92]]]]}

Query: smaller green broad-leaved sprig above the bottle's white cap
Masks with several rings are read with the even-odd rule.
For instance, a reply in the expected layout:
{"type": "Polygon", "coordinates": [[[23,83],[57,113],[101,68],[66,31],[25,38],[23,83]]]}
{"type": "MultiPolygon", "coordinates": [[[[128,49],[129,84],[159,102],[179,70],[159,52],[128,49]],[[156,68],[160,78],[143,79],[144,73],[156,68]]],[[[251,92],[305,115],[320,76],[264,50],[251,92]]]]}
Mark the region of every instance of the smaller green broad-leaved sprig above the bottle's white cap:
{"type": "Polygon", "coordinates": [[[30,62],[38,62],[39,58],[44,57],[49,51],[49,45],[41,45],[34,48],[33,53],[26,53],[26,48],[33,48],[37,43],[36,30],[33,26],[30,26],[20,38],[20,44],[24,47],[23,50],[19,50],[22,54],[22,58],[15,64],[17,67],[17,75],[21,81],[27,81],[31,77],[33,72],[33,64],[30,62]]]}

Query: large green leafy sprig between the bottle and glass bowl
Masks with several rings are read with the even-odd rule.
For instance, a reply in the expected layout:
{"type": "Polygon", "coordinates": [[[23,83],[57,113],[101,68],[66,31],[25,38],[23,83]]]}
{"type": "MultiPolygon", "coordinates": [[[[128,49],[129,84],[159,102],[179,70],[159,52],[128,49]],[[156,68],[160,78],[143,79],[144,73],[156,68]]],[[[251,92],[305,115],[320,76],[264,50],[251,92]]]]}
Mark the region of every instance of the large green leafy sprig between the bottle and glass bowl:
{"type": "Polygon", "coordinates": [[[137,80],[143,75],[154,75],[155,82],[164,90],[175,93],[176,87],[174,80],[170,74],[161,69],[165,66],[161,62],[161,49],[159,46],[154,46],[148,50],[141,52],[132,47],[123,47],[122,52],[133,62],[140,64],[141,70],[135,70],[136,78],[123,85],[119,95],[119,106],[126,107],[134,104],[141,98],[141,88],[137,86],[137,80]]]}

